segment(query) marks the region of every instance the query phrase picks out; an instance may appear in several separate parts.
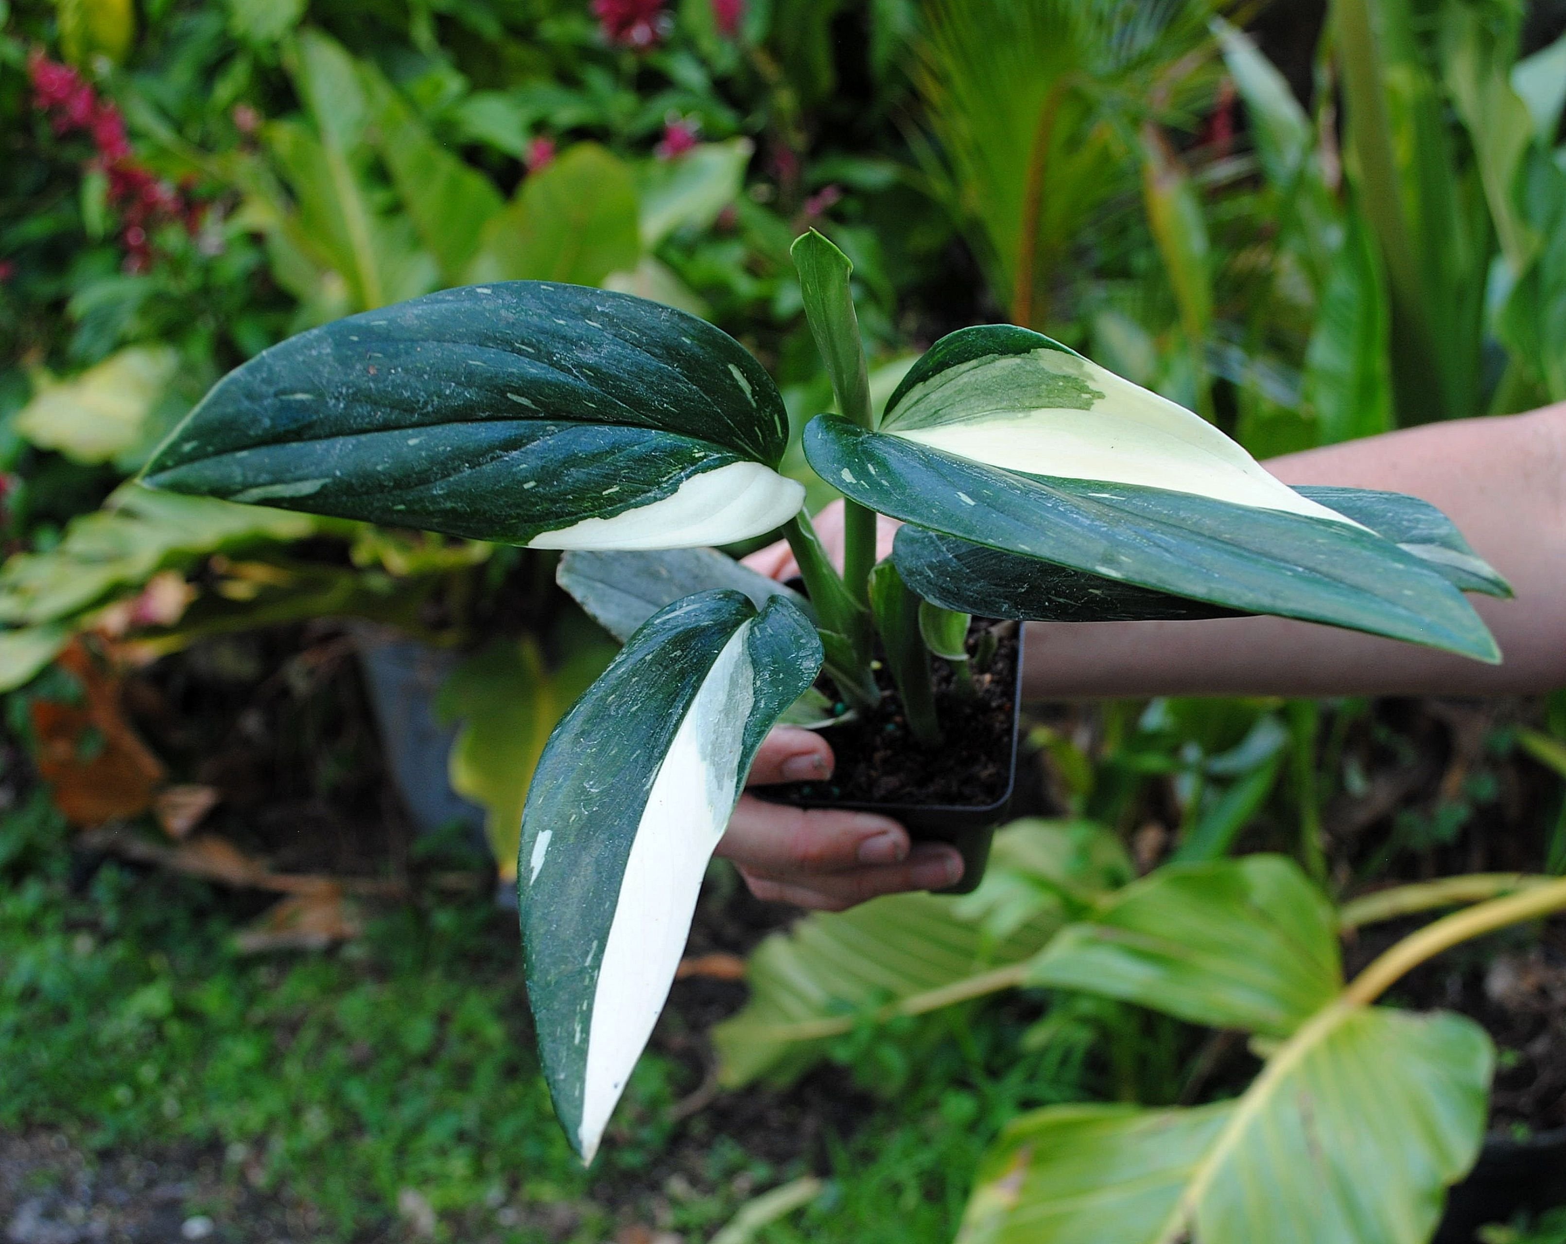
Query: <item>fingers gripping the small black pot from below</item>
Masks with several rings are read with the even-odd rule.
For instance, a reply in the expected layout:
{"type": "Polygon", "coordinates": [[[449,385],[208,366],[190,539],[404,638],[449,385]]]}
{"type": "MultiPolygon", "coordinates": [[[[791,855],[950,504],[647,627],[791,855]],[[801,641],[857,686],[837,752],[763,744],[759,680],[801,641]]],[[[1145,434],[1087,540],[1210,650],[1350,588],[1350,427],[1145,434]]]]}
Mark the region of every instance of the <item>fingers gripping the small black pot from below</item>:
{"type": "MultiPolygon", "coordinates": [[[[832,776],[832,746],[789,726],[756,751],[747,786],[821,781],[832,776]]],[[[940,842],[908,842],[897,822],[868,812],[803,809],[742,795],[717,854],[731,859],[750,892],[766,903],[843,911],[900,890],[957,884],[963,857],[940,842]]]]}

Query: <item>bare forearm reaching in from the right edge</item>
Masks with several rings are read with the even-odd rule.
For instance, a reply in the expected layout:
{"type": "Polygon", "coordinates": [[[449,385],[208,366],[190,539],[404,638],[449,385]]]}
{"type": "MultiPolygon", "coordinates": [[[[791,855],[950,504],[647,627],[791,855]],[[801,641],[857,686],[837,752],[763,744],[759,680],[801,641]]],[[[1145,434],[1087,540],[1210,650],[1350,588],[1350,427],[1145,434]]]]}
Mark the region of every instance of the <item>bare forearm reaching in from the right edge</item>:
{"type": "Polygon", "coordinates": [[[1428,424],[1275,458],[1289,484],[1411,493],[1444,510],[1516,591],[1474,598],[1505,660],[1283,618],[1034,623],[1034,699],[1138,695],[1510,695],[1566,684],[1566,404],[1428,424]]]}

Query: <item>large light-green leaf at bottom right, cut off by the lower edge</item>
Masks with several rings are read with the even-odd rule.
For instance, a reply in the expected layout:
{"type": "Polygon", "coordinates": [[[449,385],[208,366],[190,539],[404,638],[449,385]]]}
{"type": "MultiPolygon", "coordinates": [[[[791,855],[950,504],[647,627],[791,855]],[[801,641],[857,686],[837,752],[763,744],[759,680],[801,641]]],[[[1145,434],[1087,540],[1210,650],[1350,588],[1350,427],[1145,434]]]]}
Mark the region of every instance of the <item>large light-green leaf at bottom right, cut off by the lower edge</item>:
{"type": "Polygon", "coordinates": [[[1472,1020],[1331,1005],[1236,1102],[1015,1120],[957,1239],[1425,1244],[1478,1155],[1491,1066],[1472,1020]]]}

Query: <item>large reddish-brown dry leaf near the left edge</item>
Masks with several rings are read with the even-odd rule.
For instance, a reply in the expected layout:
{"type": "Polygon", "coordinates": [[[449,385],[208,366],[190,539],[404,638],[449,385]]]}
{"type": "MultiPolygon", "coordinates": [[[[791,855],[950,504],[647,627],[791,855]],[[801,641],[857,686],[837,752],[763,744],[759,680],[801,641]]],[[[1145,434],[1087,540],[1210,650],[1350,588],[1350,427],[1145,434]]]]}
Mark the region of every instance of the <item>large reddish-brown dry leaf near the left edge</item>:
{"type": "Polygon", "coordinates": [[[75,825],[102,825],[146,812],[164,770],[121,712],[119,679],[81,640],[72,642],[58,662],[81,682],[83,703],[34,699],[31,704],[38,771],[49,782],[55,806],[75,825]]]}

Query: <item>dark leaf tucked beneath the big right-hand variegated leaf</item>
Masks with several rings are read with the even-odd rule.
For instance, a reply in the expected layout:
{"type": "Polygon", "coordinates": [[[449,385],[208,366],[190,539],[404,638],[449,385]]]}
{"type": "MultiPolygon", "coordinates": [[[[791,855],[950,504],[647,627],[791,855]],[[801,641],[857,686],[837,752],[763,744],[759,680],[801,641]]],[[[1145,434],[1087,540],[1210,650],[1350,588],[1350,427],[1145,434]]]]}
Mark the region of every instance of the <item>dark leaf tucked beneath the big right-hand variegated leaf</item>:
{"type": "MultiPolygon", "coordinates": [[[[1463,591],[1510,596],[1511,587],[1441,510],[1403,493],[1298,488],[1420,559],[1463,591]]],[[[1242,610],[1171,596],[1070,566],[1002,552],[929,527],[897,529],[893,560],[908,587],[943,609],[1029,621],[1185,621],[1242,610]]]]}

